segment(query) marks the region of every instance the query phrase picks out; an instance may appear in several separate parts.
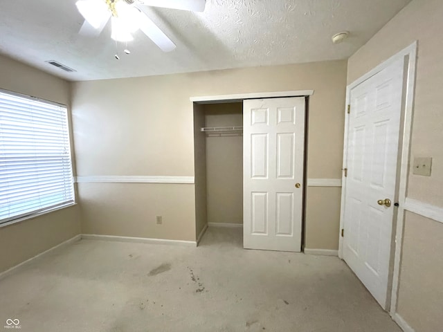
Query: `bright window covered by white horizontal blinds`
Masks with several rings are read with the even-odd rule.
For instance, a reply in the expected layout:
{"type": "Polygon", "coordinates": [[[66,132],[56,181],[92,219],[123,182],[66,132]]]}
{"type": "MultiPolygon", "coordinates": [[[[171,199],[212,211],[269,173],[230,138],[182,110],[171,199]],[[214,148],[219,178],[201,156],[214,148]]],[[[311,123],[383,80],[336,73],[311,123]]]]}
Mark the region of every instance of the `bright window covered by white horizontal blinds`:
{"type": "Polygon", "coordinates": [[[0,223],[70,203],[66,107],[0,91],[0,223]]]}

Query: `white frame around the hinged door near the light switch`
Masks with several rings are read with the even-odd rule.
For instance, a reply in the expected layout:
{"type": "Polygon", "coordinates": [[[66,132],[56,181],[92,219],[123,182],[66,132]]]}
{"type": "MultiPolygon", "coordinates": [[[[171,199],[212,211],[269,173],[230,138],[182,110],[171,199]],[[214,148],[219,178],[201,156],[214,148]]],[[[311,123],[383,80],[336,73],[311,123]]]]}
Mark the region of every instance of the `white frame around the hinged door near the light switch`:
{"type": "MultiPolygon", "coordinates": [[[[394,214],[394,222],[392,223],[392,234],[395,237],[395,248],[391,243],[390,252],[390,277],[388,279],[388,293],[390,292],[390,306],[389,312],[392,317],[397,312],[397,296],[399,290],[399,273],[401,263],[401,247],[403,245],[403,232],[404,232],[404,205],[406,201],[406,189],[408,185],[408,171],[410,160],[410,138],[413,127],[413,107],[415,96],[415,75],[417,65],[417,41],[410,44],[408,47],[399,51],[396,55],[393,55],[383,63],[373,68],[365,75],[359,77],[346,87],[346,103],[345,103],[345,137],[343,145],[343,169],[347,167],[347,139],[349,131],[349,117],[347,116],[347,105],[350,104],[350,91],[357,85],[361,84],[365,80],[379,73],[383,69],[390,66],[392,63],[399,59],[405,59],[405,77],[403,85],[403,97],[401,104],[401,132],[399,142],[401,142],[401,149],[399,149],[399,158],[397,166],[399,166],[399,176],[397,177],[396,193],[398,195],[399,207],[397,208],[397,214],[394,214]],[[400,163],[400,165],[398,165],[400,163]],[[393,259],[392,259],[393,258],[393,259]]],[[[344,214],[345,214],[345,193],[346,193],[346,178],[345,172],[342,174],[342,190],[341,190],[341,214],[340,214],[340,231],[338,234],[338,257],[343,259],[343,237],[341,237],[341,230],[344,227],[344,214]]]]}

